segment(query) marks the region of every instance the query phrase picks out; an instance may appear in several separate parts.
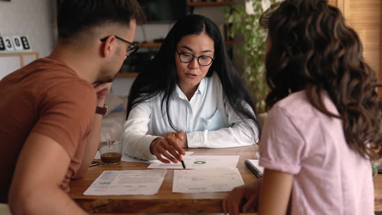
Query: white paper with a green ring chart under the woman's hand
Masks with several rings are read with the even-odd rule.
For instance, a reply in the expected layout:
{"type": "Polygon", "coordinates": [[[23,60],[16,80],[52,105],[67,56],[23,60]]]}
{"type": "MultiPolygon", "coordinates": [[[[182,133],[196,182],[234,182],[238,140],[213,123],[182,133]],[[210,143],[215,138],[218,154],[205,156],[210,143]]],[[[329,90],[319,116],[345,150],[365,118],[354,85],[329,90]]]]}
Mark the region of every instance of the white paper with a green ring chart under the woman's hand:
{"type": "MultiPolygon", "coordinates": [[[[215,156],[215,155],[196,155],[196,156],[183,156],[183,161],[186,164],[186,169],[202,169],[202,168],[215,168],[215,167],[234,167],[236,168],[239,161],[238,155],[215,156]]],[[[155,160],[148,167],[148,169],[183,169],[182,163],[162,163],[155,160]]]]}

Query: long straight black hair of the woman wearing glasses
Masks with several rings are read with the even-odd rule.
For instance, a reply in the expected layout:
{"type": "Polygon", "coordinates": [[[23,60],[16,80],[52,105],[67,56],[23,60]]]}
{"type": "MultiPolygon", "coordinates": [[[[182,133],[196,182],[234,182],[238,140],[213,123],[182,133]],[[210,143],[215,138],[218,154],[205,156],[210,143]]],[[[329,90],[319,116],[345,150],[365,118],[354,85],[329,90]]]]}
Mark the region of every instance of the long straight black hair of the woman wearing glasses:
{"type": "MultiPolygon", "coordinates": [[[[256,106],[250,93],[245,88],[244,81],[227,55],[219,28],[211,19],[195,14],[187,15],[175,23],[166,36],[158,54],[135,79],[129,93],[127,118],[131,109],[138,104],[162,96],[162,114],[167,114],[170,126],[174,130],[178,130],[172,123],[169,114],[171,94],[178,82],[175,65],[176,47],[182,37],[190,34],[198,35],[202,32],[205,32],[213,40],[215,49],[215,60],[212,62],[206,76],[210,77],[212,73],[217,73],[228,105],[233,108],[240,118],[252,119],[257,125],[260,135],[261,128],[257,119],[256,106]],[[248,109],[247,104],[252,110],[248,109]],[[166,112],[163,112],[164,110],[166,112]]],[[[244,120],[244,122],[248,124],[247,120],[244,120]]],[[[253,124],[250,127],[253,129],[253,124]]]]}

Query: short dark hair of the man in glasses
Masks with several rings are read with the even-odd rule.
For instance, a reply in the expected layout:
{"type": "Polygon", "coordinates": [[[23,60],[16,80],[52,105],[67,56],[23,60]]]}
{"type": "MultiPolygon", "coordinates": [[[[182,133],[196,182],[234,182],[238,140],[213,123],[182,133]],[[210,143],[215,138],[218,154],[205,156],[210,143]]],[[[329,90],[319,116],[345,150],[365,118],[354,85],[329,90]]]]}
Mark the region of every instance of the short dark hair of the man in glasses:
{"type": "Polygon", "coordinates": [[[57,8],[58,36],[61,38],[98,25],[129,25],[131,19],[137,23],[145,19],[136,0],[59,0],[57,8]]]}

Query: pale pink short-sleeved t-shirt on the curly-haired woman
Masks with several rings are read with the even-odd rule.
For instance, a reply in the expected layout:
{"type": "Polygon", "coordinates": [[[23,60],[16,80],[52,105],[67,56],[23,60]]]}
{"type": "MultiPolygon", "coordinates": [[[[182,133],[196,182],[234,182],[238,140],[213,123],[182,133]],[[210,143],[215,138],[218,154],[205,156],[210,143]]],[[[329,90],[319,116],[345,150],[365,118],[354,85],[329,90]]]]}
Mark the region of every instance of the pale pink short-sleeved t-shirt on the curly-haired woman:
{"type": "MultiPolygon", "coordinates": [[[[325,107],[338,114],[326,93],[325,107]]],[[[293,175],[292,215],[372,215],[371,163],[351,150],[342,120],[314,108],[299,91],[270,111],[260,140],[260,165],[293,175]]]]}

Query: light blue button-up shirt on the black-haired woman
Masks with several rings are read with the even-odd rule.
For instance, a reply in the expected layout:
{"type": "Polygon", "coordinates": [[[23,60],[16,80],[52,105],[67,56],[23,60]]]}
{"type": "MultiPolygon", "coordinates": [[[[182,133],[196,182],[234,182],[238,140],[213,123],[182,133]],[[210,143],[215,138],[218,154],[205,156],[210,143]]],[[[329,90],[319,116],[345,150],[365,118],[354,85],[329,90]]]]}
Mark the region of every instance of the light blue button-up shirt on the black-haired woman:
{"type": "MultiPolygon", "coordinates": [[[[121,140],[127,155],[146,160],[156,159],[150,152],[151,142],[162,134],[175,131],[162,114],[163,96],[132,108],[124,123],[121,140]]],[[[249,107],[249,106],[248,106],[249,107]]],[[[164,111],[166,112],[166,111],[164,111]]],[[[170,98],[170,117],[179,131],[187,134],[189,148],[227,148],[255,144],[255,134],[223,99],[223,88],[216,73],[205,77],[188,101],[176,86],[170,98]]]]}

